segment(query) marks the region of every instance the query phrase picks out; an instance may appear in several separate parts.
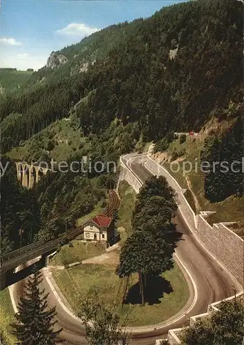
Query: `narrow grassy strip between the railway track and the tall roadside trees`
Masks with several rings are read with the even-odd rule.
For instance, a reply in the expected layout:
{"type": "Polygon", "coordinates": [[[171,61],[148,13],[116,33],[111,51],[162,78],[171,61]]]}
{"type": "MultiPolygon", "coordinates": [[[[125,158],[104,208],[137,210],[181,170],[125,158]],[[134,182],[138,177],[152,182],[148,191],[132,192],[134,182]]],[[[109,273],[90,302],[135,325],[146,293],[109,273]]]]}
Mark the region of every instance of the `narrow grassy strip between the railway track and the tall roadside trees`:
{"type": "Polygon", "coordinates": [[[136,200],[136,193],[134,189],[126,181],[121,181],[119,184],[119,196],[121,197],[121,205],[119,207],[119,220],[117,226],[121,228],[121,244],[132,233],[132,213],[134,209],[134,202],[136,200]]]}

